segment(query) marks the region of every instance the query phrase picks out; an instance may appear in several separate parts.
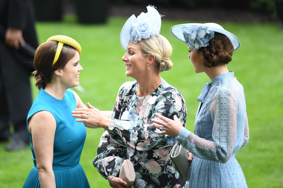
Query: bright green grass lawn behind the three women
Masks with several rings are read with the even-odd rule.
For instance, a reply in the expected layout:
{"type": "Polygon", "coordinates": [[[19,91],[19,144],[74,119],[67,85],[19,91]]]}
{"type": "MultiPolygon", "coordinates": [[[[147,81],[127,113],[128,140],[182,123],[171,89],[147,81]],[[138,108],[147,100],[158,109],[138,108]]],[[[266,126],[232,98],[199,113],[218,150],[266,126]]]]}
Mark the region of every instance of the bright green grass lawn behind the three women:
{"type": "MultiPolygon", "coordinates": [[[[80,64],[80,86],[77,91],[83,102],[90,102],[100,110],[112,110],[119,86],[132,78],[125,76],[125,65],[121,60],[125,51],[120,45],[120,31],[126,19],[110,17],[106,24],[81,25],[73,16],[65,16],[62,22],[37,23],[40,43],[53,35],[67,35],[82,46],[80,64]]],[[[186,100],[187,129],[193,131],[198,97],[204,83],[210,82],[205,73],[195,74],[186,44],[170,33],[176,24],[195,21],[163,20],[161,33],[173,46],[171,56],[173,69],[161,74],[175,86],[186,100]]],[[[249,188],[283,187],[283,31],[276,23],[219,23],[235,34],[241,47],[234,52],[228,69],[245,89],[249,117],[250,141],[237,152],[237,159],[246,177],[249,188]]],[[[33,85],[33,95],[37,89],[33,85]]],[[[93,167],[103,129],[87,129],[87,138],[80,163],[91,187],[108,187],[108,182],[93,167]]],[[[26,149],[6,152],[7,143],[0,144],[0,187],[22,187],[33,166],[32,153],[26,149]]]]}

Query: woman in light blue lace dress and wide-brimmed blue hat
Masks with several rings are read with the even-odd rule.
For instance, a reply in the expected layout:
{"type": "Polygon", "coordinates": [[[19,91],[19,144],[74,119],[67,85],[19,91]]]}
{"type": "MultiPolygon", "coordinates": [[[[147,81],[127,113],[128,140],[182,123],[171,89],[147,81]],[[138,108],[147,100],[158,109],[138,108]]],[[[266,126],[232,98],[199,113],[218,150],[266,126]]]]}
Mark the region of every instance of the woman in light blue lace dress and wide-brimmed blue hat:
{"type": "Polygon", "coordinates": [[[244,188],[243,171],[236,152],[249,140],[249,126],[243,86],[228,71],[233,51],[240,47],[238,38],[214,23],[181,24],[171,33],[188,44],[189,59],[196,73],[205,72],[211,79],[203,86],[194,124],[194,132],[177,118],[153,119],[154,127],[177,136],[177,141],[193,154],[188,175],[188,187],[244,188]]]}

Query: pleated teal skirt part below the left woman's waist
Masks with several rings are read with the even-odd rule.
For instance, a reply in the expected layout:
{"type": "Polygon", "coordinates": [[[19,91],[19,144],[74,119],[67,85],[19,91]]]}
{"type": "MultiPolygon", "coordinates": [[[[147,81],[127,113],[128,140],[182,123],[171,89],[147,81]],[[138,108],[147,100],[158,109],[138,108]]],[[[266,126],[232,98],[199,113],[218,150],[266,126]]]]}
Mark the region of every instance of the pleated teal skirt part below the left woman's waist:
{"type": "MultiPolygon", "coordinates": [[[[78,166],[69,169],[53,169],[56,188],[90,188],[83,167],[78,166]]],[[[40,188],[38,171],[32,167],[24,182],[23,188],[40,188]]]]}

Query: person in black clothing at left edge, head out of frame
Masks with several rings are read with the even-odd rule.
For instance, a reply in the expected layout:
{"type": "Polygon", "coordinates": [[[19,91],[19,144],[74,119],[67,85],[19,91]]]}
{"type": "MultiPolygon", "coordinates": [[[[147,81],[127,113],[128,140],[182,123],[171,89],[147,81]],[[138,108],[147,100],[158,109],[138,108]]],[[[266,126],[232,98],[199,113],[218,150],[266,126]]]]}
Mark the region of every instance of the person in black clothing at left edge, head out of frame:
{"type": "Polygon", "coordinates": [[[27,45],[36,49],[38,41],[29,0],[1,0],[0,18],[0,142],[12,136],[5,148],[12,151],[29,144],[26,119],[32,105],[34,54],[22,49],[27,45]]]}

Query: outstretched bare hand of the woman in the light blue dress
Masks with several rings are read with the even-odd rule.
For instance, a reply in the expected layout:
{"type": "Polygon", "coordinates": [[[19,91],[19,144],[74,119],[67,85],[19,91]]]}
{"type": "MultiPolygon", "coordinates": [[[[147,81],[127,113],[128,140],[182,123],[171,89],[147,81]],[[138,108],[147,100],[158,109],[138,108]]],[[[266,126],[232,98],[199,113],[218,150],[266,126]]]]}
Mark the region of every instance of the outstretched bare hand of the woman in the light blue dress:
{"type": "Polygon", "coordinates": [[[180,119],[177,118],[177,116],[174,116],[174,120],[169,119],[167,117],[164,117],[158,113],[154,114],[156,117],[158,117],[160,120],[152,119],[152,126],[160,129],[162,127],[162,132],[157,132],[157,134],[169,134],[173,137],[177,137],[179,134],[179,131],[182,129],[182,123],[180,119]]]}

